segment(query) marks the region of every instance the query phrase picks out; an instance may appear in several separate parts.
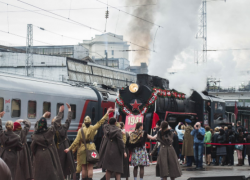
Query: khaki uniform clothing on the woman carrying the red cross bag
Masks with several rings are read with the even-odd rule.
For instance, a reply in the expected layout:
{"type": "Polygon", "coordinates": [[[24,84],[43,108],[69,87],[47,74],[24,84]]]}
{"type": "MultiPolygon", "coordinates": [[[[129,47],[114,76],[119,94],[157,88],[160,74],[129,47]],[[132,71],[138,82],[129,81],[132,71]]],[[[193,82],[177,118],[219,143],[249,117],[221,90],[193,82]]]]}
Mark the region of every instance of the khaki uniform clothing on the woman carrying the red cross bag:
{"type": "MultiPolygon", "coordinates": [[[[88,150],[95,150],[96,149],[95,144],[93,143],[94,137],[96,135],[96,130],[98,130],[99,127],[101,127],[101,125],[105,122],[105,120],[107,118],[108,118],[108,114],[105,114],[102,117],[102,119],[100,121],[98,121],[94,126],[89,126],[89,127],[85,126],[85,127],[81,128],[81,129],[83,129],[83,133],[84,133],[86,142],[91,142],[91,143],[86,144],[88,150]]],[[[78,147],[80,145],[78,150],[77,150],[77,167],[76,167],[77,173],[80,173],[82,171],[82,165],[87,164],[87,162],[86,162],[86,148],[85,148],[85,145],[83,143],[81,129],[78,130],[76,139],[69,147],[69,150],[74,150],[74,149],[76,149],[76,147],[78,147]]]]}

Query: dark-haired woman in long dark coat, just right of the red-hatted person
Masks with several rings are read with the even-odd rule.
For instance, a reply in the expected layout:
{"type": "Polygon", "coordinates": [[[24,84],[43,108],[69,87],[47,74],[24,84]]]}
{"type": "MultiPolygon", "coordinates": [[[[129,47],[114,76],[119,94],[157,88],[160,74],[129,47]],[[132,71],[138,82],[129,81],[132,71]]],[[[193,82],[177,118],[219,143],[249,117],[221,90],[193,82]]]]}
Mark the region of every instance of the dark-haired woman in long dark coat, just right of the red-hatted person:
{"type": "MultiPolygon", "coordinates": [[[[59,112],[63,112],[64,106],[59,108],[59,112]]],[[[35,133],[32,136],[30,145],[33,153],[33,168],[35,180],[63,180],[63,172],[60,164],[57,148],[54,142],[56,129],[54,124],[59,123],[56,119],[51,123],[51,127],[47,127],[46,118],[50,116],[46,112],[43,117],[35,125],[35,133]]]]}

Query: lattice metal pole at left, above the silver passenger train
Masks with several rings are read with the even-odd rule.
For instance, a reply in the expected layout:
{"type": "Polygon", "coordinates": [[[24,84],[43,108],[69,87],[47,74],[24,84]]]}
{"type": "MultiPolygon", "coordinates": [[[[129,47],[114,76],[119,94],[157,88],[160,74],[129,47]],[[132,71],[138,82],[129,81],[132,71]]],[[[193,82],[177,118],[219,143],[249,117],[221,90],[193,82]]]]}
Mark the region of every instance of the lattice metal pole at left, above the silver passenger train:
{"type": "Polygon", "coordinates": [[[34,77],[33,66],[33,25],[27,25],[27,39],[26,39],[26,62],[25,62],[26,75],[34,77]]]}

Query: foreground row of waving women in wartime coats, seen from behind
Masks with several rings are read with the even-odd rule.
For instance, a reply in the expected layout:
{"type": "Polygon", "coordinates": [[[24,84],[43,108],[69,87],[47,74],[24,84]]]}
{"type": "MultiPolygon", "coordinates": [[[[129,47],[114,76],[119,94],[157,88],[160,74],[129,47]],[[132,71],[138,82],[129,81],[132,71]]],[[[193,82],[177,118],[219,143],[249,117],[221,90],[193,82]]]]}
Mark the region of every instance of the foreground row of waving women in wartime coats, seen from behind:
{"type": "MultiPolygon", "coordinates": [[[[67,131],[71,124],[72,112],[69,104],[67,107],[68,118],[64,124],[61,123],[63,105],[50,125],[47,122],[50,112],[44,113],[35,124],[30,147],[27,144],[27,135],[31,123],[28,120],[17,120],[14,123],[7,121],[4,130],[2,118],[5,112],[0,113],[1,177],[6,177],[6,180],[63,180],[68,175],[82,172],[83,180],[92,180],[93,166],[98,164],[98,167],[106,170],[106,175],[102,179],[128,179],[131,152],[134,179],[137,180],[139,173],[142,180],[144,167],[149,166],[149,154],[145,146],[147,139],[159,142],[156,176],[164,180],[167,177],[174,180],[181,176],[178,157],[172,156],[178,151],[172,146],[178,138],[166,121],[161,123],[161,130],[155,136],[143,131],[143,124],[140,122],[136,124],[135,130],[128,134],[124,129],[124,123],[117,122],[114,117],[109,118],[109,114],[114,111],[109,108],[95,125],[91,125],[91,118],[86,116],[76,139],[70,144],[67,131]],[[94,137],[101,126],[104,135],[97,152],[94,137]],[[77,154],[77,165],[74,153],[77,154]]],[[[150,154],[155,152],[156,150],[150,154]]],[[[76,179],[77,176],[71,178],[76,179]]]]}

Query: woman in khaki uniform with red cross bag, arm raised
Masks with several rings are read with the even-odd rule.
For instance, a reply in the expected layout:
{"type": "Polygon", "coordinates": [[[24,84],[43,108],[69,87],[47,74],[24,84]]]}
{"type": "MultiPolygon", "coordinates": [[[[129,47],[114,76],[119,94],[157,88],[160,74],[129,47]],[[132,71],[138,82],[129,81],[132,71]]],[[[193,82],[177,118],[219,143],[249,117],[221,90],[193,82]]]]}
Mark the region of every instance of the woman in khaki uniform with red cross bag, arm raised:
{"type": "Polygon", "coordinates": [[[93,177],[93,164],[87,163],[87,157],[86,157],[86,148],[85,144],[83,143],[83,137],[81,130],[83,129],[83,133],[86,140],[86,145],[88,150],[95,150],[95,144],[93,143],[96,130],[98,130],[99,127],[105,122],[105,120],[108,118],[108,114],[110,112],[114,111],[113,109],[109,108],[107,110],[107,113],[102,117],[100,121],[98,121],[94,126],[91,126],[91,119],[89,116],[86,116],[84,118],[84,124],[85,127],[78,130],[77,136],[75,141],[71,144],[71,146],[68,149],[65,149],[64,152],[68,153],[71,150],[74,150],[77,146],[79,146],[80,142],[81,145],[78,148],[77,151],[77,167],[76,167],[76,173],[79,173],[82,171],[82,178],[83,179],[92,179],[93,177]]]}

